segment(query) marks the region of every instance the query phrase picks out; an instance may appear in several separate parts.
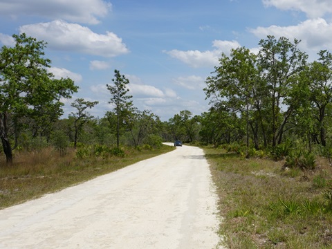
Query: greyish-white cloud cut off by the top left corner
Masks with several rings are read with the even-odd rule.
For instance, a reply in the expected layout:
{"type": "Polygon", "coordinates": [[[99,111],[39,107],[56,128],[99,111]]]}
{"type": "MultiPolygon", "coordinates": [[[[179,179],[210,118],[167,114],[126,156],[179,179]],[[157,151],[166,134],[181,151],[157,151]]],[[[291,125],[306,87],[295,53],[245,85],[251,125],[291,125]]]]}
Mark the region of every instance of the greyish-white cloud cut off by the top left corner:
{"type": "Polygon", "coordinates": [[[102,0],[2,0],[0,15],[13,19],[21,16],[65,19],[86,24],[98,24],[97,17],[104,17],[111,10],[111,3],[102,0]]]}

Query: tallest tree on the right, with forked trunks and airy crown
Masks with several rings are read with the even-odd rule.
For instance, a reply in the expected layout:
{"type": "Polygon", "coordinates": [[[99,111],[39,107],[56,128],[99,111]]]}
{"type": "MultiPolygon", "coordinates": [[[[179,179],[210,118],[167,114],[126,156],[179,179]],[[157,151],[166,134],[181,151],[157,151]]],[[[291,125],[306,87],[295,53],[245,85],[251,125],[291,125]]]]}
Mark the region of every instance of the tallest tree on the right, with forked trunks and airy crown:
{"type": "Polygon", "coordinates": [[[296,95],[290,96],[288,93],[297,84],[297,75],[306,66],[308,57],[297,48],[298,44],[297,39],[292,43],[285,37],[276,39],[272,35],[259,42],[258,66],[268,89],[273,147],[282,142],[288,118],[297,104],[296,95]],[[286,111],[282,111],[282,104],[286,111]]]}

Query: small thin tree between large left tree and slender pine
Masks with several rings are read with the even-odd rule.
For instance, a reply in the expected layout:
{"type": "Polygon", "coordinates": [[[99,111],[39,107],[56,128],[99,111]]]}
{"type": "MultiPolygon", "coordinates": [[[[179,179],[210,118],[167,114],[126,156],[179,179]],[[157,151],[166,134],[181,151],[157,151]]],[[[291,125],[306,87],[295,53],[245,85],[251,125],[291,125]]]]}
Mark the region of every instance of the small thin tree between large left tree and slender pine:
{"type": "Polygon", "coordinates": [[[76,149],[77,145],[77,139],[80,134],[80,131],[82,130],[83,125],[91,120],[93,116],[90,115],[89,112],[86,111],[86,109],[93,108],[96,104],[98,104],[98,101],[85,101],[83,98],[77,98],[75,102],[71,103],[71,106],[76,108],[77,111],[74,113],[71,113],[71,116],[75,119],[74,121],[74,148],[76,149]]]}

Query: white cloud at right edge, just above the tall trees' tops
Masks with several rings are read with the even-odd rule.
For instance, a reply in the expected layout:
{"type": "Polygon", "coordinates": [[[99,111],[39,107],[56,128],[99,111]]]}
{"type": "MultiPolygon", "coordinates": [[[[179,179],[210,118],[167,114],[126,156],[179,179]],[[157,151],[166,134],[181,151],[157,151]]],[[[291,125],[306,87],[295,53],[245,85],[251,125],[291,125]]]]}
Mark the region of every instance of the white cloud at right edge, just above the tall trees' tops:
{"type": "Polygon", "coordinates": [[[301,40],[299,48],[309,53],[332,48],[332,24],[322,18],[308,19],[297,26],[258,27],[250,31],[261,39],[265,39],[267,35],[288,37],[291,40],[299,39],[301,40]]]}

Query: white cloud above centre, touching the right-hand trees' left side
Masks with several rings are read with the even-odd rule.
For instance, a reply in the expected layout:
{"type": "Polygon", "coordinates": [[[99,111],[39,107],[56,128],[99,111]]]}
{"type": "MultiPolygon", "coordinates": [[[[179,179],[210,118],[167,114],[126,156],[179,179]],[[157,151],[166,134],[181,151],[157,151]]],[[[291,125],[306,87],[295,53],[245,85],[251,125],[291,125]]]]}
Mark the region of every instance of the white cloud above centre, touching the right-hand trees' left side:
{"type": "Polygon", "coordinates": [[[221,53],[230,54],[230,49],[238,48],[239,43],[236,41],[214,40],[212,46],[215,48],[214,50],[206,50],[204,52],[199,50],[182,51],[174,49],[166,51],[165,53],[173,58],[181,60],[181,62],[184,62],[193,68],[205,66],[211,67],[218,64],[221,53]]]}

